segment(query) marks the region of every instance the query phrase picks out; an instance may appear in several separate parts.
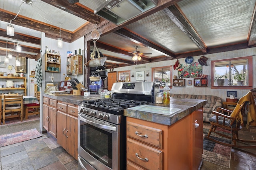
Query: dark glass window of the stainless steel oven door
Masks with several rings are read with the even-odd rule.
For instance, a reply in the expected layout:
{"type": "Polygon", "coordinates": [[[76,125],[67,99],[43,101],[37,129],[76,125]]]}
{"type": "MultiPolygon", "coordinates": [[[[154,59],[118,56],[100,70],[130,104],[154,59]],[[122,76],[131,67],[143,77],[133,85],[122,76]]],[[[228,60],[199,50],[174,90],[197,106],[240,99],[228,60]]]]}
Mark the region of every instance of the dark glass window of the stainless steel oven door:
{"type": "Polygon", "coordinates": [[[80,121],[80,147],[112,168],[112,133],[80,121]]]}

